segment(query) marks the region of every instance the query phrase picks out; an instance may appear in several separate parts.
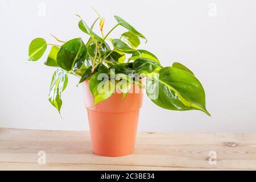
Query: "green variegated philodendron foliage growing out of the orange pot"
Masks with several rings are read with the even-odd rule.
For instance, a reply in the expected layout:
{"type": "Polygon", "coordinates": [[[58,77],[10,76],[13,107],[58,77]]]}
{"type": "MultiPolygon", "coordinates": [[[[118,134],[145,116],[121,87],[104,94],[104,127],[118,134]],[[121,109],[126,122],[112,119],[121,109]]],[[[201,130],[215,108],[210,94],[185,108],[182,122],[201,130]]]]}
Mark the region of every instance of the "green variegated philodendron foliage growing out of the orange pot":
{"type": "Polygon", "coordinates": [[[119,16],[114,16],[117,24],[104,35],[105,19],[98,15],[92,26],[84,20],[78,26],[87,36],[87,42],[75,38],[65,42],[57,39],[61,45],[49,44],[42,38],[36,38],[30,43],[29,61],[37,61],[42,57],[48,46],[51,46],[47,60],[49,67],[56,67],[49,89],[49,102],[60,112],[61,94],[68,84],[68,76],[80,78],[79,84],[88,80],[89,89],[94,97],[94,105],[108,99],[119,90],[123,99],[131,88],[138,84],[146,89],[147,96],[156,105],[170,110],[201,110],[210,115],[205,108],[205,92],[191,70],[180,63],[163,67],[158,58],[151,52],[137,49],[140,38],[147,42],[144,35],[119,16]],[[93,31],[99,20],[101,35],[93,31]],[[126,28],[120,38],[112,39],[110,33],[117,27],[126,28]],[[110,45],[112,44],[112,47],[110,45]],[[102,76],[103,75],[103,76],[102,76]],[[146,84],[141,79],[146,77],[146,84]],[[102,81],[103,80],[103,81],[102,81]],[[102,85],[108,85],[104,89],[102,85]],[[120,84],[122,83],[122,84],[120,84]],[[125,83],[125,84],[123,84],[125,83]],[[104,89],[104,92],[101,92],[104,89]]]}

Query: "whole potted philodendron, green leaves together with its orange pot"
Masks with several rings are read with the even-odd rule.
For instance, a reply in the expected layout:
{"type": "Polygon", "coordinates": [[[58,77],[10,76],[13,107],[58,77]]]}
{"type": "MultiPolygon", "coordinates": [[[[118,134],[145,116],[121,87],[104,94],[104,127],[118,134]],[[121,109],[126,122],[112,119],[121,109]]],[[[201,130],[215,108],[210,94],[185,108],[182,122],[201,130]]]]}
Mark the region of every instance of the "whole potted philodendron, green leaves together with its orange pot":
{"type": "Polygon", "coordinates": [[[84,88],[93,151],[103,156],[122,156],[134,151],[139,109],[143,90],[156,105],[169,110],[201,110],[205,108],[203,86],[193,72],[180,63],[163,67],[151,52],[137,49],[140,38],[147,39],[119,16],[117,24],[104,35],[105,19],[98,15],[92,26],[84,20],[78,26],[88,35],[87,42],[75,38],[61,45],[47,43],[42,38],[32,40],[29,61],[37,61],[48,46],[49,67],[56,67],[49,89],[49,102],[60,113],[61,95],[68,84],[68,76],[79,77],[84,88]],[[101,36],[94,31],[100,22],[101,36]],[[110,33],[122,26],[127,29],[120,38],[110,33]],[[110,45],[112,45],[110,47],[110,45]]]}

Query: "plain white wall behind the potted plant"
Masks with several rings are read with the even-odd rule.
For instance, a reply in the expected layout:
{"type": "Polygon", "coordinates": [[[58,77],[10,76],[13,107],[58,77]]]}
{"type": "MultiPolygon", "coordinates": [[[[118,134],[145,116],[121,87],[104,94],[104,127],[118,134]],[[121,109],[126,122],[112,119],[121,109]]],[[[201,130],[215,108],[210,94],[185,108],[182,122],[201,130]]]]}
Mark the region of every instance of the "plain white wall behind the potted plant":
{"type": "Polygon", "coordinates": [[[88,130],[77,78],[69,77],[60,119],[47,99],[55,69],[43,65],[46,56],[36,63],[26,60],[36,37],[52,43],[49,34],[86,39],[74,14],[90,24],[96,17],[92,6],[106,18],[105,30],[114,26],[113,15],[121,16],[147,36],[141,48],[165,66],[174,61],[187,65],[205,88],[212,117],[200,111],[164,110],[145,97],[139,131],[256,132],[255,0],[1,0],[0,127],[88,130]],[[40,5],[46,5],[46,16],[39,16],[40,5]],[[216,5],[217,16],[210,16],[214,10],[209,14],[209,5],[216,5]]]}

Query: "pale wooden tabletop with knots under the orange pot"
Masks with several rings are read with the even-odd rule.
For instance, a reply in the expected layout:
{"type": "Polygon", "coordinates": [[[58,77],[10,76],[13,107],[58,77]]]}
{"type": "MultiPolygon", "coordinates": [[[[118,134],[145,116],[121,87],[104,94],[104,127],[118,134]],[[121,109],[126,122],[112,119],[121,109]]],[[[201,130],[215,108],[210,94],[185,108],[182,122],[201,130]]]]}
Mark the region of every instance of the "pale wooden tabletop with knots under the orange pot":
{"type": "Polygon", "coordinates": [[[256,134],[138,133],[134,154],[110,158],[93,154],[88,131],[0,128],[0,169],[256,170],[256,134]]]}

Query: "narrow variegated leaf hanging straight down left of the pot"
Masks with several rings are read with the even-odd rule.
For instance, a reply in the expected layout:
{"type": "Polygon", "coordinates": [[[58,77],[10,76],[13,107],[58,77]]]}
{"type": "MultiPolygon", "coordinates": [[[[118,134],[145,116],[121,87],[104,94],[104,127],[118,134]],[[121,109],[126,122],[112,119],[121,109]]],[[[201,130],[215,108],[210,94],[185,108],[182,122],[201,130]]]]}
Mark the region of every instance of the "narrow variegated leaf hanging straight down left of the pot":
{"type": "Polygon", "coordinates": [[[53,73],[48,100],[60,113],[62,105],[61,94],[68,85],[68,72],[57,68],[53,73]]]}

